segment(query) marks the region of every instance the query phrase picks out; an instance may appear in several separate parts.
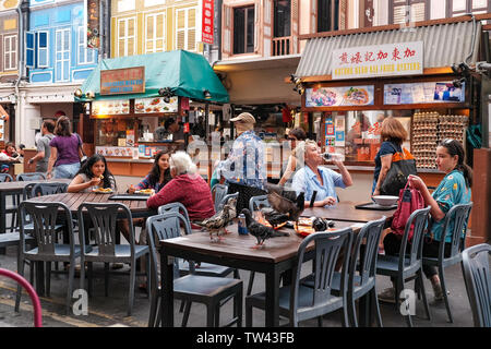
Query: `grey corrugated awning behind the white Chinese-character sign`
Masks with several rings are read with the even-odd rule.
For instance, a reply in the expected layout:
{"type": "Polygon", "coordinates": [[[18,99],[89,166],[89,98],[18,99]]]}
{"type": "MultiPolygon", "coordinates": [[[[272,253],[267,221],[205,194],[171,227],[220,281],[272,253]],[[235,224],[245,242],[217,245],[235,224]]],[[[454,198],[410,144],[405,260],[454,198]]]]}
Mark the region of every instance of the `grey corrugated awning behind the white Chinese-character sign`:
{"type": "Polygon", "coordinates": [[[384,44],[423,41],[423,67],[443,68],[460,63],[474,51],[467,63],[476,63],[481,40],[480,22],[458,22],[418,26],[405,29],[358,33],[339,36],[311,38],[303,49],[302,57],[295,73],[298,77],[326,76],[332,74],[333,50],[376,46],[384,44]]]}

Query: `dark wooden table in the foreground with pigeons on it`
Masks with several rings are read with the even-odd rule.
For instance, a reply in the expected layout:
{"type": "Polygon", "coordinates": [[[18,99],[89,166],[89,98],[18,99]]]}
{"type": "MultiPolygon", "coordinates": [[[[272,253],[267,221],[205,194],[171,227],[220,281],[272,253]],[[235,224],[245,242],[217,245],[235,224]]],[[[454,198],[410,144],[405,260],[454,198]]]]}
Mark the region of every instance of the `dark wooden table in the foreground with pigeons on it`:
{"type": "MultiPolygon", "coordinates": [[[[335,221],[335,228],[352,227],[358,231],[362,222],[335,221]]],[[[264,273],[266,306],[265,325],[279,325],[279,281],[284,272],[291,272],[303,237],[288,229],[288,237],[266,240],[255,249],[256,239],[251,234],[238,234],[237,224],[227,230],[220,242],[212,242],[207,232],[194,232],[185,237],[160,240],[160,296],[163,326],[173,326],[173,264],[172,257],[207,262],[229,267],[264,273]]],[[[310,248],[312,250],[313,246],[310,248]]]]}

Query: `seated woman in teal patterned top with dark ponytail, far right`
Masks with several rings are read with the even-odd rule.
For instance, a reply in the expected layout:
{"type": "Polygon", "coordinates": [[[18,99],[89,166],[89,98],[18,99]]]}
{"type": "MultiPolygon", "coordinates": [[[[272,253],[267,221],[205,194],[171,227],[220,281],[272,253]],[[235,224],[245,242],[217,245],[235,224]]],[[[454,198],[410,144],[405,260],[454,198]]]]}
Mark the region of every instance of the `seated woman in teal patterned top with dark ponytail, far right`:
{"type": "MultiPolygon", "coordinates": [[[[436,166],[439,170],[445,172],[445,177],[440,182],[436,190],[430,194],[428,186],[417,176],[409,176],[408,181],[411,188],[418,189],[423,198],[424,205],[431,206],[429,229],[423,240],[422,254],[427,257],[438,257],[440,241],[445,239],[451,242],[452,231],[442,231],[446,213],[452,206],[467,204],[470,202],[470,186],[472,185],[472,169],[464,164],[464,147],[458,141],[445,140],[436,147],[436,166]]],[[[467,225],[467,224],[466,224],[467,225]]],[[[452,226],[452,224],[451,224],[452,226]]],[[[463,231],[463,238],[465,230],[463,231]]],[[[462,240],[464,243],[464,239],[462,240]]],[[[398,255],[400,248],[400,237],[388,233],[384,238],[384,249],[387,255],[398,255]]],[[[445,244],[445,256],[451,253],[451,244],[445,244]]],[[[442,286],[436,272],[436,267],[423,265],[423,273],[430,279],[433,287],[435,301],[443,300],[442,286]]],[[[394,301],[395,288],[387,288],[379,298],[394,301]],[[392,296],[392,298],[391,298],[392,296]]]]}

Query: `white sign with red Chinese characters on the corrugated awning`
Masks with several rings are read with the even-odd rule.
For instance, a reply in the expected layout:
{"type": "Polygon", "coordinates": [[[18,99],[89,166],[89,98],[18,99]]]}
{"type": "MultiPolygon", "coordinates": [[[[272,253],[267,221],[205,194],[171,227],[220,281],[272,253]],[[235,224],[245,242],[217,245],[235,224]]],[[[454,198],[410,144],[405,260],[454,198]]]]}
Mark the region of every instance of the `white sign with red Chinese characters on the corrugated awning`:
{"type": "Polygon", "coordinates": [[[350,47],[333,51],[333,80],[416,75],[422,72],[422,41],[350,47]]]}

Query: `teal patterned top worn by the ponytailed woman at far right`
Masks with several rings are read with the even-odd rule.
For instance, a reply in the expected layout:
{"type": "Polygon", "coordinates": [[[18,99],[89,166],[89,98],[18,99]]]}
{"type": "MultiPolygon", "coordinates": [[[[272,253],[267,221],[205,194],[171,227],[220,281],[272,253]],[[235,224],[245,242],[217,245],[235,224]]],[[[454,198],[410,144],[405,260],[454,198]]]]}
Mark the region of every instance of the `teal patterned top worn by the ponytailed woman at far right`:
{"type": "MultiPolygon", "coordinates": [[[[452,208],[452,206],[457,204],[468,204],[470,202],[470,188],[467,188],[464,174],[458,170],[453,170],[440,182],[439,186],[435,189],[433,198],[440,206],[440,209],[446,215],[446,213],[452,208]]],[[[445,218],[436,221],[430,218],[430,229],[428,236],[436,241],[442,240],[443,224],[445,218]]],[[[445,242],[452,241],[452,231],[454,230],[454,221],[452,220],[448,225],[445,242]]],[[[467,222],[465,224],[462,237],[467,229],[467,222]]]]}

